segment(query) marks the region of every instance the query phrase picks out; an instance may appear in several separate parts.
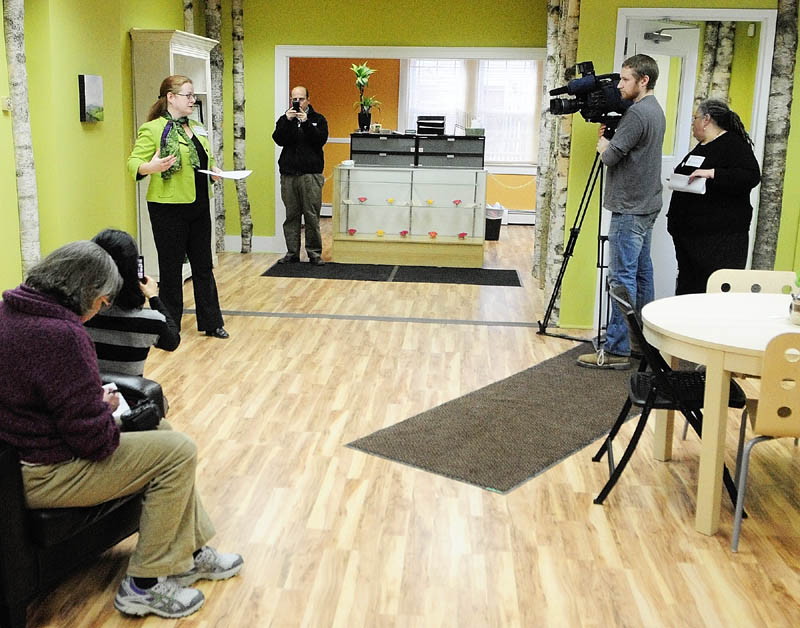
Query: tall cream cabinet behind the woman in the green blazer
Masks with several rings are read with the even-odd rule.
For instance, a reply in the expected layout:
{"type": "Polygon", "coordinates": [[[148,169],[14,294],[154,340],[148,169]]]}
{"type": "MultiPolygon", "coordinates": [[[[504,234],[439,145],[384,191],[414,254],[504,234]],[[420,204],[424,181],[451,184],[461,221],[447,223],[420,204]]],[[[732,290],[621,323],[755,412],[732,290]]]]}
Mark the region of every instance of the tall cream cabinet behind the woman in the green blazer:
{"type": "MultiPolygon", "coordinates": [[[[207,129],[211,125],[211,62],[210,52],[217,42],[207,37],[175,30],[147,30],[132,28],[131,66],[133,74],[134,137],[139,127],[147,121],[150,107],[158,99],[161,82],[173,74],[183,74],[192,79],[197,96],[194,118],[207,129]]],[[[211,133],[209,132],[209,138],[211,133]]],[[[131,143],[133,146],[133,143],[131,143]]],[[[139,251],[144,256],[145,272],[158,278],[158,257],[153,241],[150,216],[147,213],[147,186],[149,177],[137,184],[139,225],[139,251]]],[[[214,215],[211,204],[211,251],[216,253],[214,242],[214,215]]],[[[184,264],[183,277],[189,277],[189,264],[184,264]]]]}

